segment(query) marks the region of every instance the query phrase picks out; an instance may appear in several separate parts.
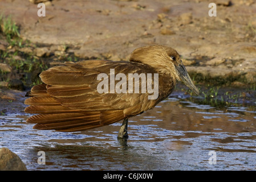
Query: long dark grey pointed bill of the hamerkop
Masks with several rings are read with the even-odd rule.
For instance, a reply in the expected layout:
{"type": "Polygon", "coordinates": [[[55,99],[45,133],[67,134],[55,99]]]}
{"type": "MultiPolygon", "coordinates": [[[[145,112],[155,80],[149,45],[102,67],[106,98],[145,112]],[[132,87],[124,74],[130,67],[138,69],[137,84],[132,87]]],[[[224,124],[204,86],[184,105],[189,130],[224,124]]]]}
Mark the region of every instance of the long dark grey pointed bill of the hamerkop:
{"type": "Polygon", "coordinates": [[[178,76],[180,77],[180,80],[183,81],[184,84],[186,86],[188,86],[188,88],[190,88],[194,93],[196,93],[198,95],[199,90],[194,85],[194,83],[191,80],[191,78],[190,78],[188,72],[186,71],[186,68],[184,67],[184,65],[181,63],[180,65],[175,66],[175,68],[176,68],[176,72],[178,73],[178,76]]]}

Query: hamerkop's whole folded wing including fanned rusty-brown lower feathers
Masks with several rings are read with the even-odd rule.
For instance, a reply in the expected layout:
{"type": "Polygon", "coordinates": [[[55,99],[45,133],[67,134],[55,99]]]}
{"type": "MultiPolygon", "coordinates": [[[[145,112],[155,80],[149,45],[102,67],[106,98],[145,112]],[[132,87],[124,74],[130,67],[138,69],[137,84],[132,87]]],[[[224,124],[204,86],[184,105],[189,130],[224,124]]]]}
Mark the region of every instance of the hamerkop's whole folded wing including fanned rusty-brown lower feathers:
{"type": "MultiPolygon", "coordinates": [[[[148,100],[148,93],[99,93],[99,73],[109,77],[115,73],[142,73],[145,70],[127,61],[87,60],[60,63],[43,71],[44,84],[36,85],[25,101],[27,113],[36,113],[27,122],[37,123],[34,129],[81,131],[118,122],[157,104],[148,100]]],[[[147,70],[147,69],[146,69],[147,70]]]]}

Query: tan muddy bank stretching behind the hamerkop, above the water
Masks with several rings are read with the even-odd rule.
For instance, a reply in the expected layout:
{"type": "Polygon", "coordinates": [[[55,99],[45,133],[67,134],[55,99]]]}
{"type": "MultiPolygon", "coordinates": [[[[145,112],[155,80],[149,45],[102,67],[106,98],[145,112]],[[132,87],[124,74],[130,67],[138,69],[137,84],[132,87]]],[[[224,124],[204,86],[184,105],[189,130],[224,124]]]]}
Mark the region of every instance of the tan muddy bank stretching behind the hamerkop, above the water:
{"type": "Polygon", "coordinates": [[[46,16],[39,17],[36,3],[1,1],[22,39],[10,44],[0,36],[2,86],[15,78],[25,86],[40,82],[50,61],[128,60],[145,44],[177,49],[197,82],[255,85],[255,1],[218,1],[216,17],[204,0],[45,3],[46,16]]]}

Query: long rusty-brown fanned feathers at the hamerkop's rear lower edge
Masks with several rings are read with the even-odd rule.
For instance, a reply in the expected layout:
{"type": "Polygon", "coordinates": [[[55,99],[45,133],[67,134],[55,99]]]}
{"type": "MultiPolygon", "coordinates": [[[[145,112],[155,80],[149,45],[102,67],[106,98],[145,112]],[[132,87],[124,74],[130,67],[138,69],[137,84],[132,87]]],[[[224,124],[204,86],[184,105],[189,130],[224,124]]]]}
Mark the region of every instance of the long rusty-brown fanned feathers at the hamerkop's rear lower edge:
{"type": "Polygon", "coordinates": [[[104,125],[110,125],[124,119],[123,110],[109,110],[109,111],[96,111],[92,110],[94,107],[97,109],[97,105],[100,102],[89,102],[86,97],[83,96],[83,92],[87,92],[89,88],[87,86],[80,86],[76,88],[56,88],[46,84],[40,84],[34,86],[30,92],[27,92],[26,96],[30,97],[25,100],[27,106],[26,113],[37,114],[27,119],[27,123],[35,123],[33,129],[38,130],[57,130],[57,131],[83,131],[90,130],[96,127],[104,125]],[[54,93],[60,98],[54,98],[48,94],[54,93]],[[74,100],[74,92],[76,97],[84,97],[84,100],[79,98],[78,101],[74,100]],[[70,94],[70,95],[69,95],[70,94]],[[68,106],[76,106],[72,109],[66,104],[60,104],[64,98],[72,98],[72,102],[68,106]],[[73,96],[73,97],[71,97],[73,96]],[[76,103],[75,103],[76,101],[76,103]],[[91,106],[91,110],[79,109],[79,102],[88,102],[91,106]]]}

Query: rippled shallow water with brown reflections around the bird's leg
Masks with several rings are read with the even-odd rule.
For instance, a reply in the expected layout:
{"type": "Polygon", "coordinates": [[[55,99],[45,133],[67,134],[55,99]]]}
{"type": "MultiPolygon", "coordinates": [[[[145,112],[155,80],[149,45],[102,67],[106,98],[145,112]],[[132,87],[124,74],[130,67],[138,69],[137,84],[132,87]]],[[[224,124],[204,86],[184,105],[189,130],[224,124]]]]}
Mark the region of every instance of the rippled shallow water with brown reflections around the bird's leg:
{"type": "MultiPolygon", "coordinates": [[[[22,101],[20,110],[25,107],[22,101]]],[[[14,113],[0,116],[0,147],[15,152],[29,170],[256,169],[253,106],[219,109],[173,94],[129,119],[127,142],[117,140],[121,122],[60,133],[33,130],[25,122],[28,114],[14,113]],[[46,164],[38,164],[39,151],[46,164]]]]}

